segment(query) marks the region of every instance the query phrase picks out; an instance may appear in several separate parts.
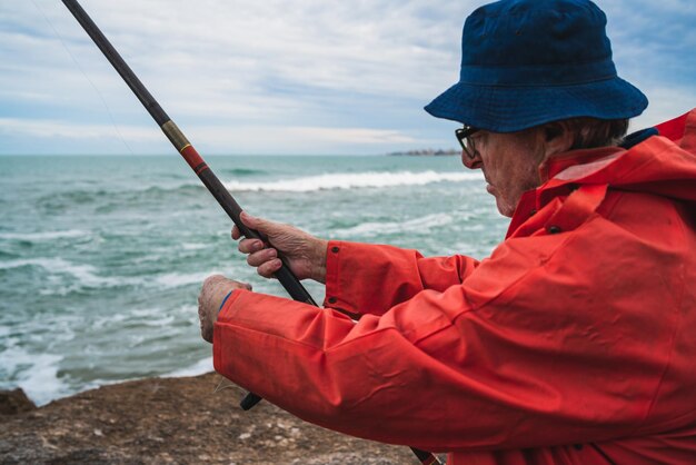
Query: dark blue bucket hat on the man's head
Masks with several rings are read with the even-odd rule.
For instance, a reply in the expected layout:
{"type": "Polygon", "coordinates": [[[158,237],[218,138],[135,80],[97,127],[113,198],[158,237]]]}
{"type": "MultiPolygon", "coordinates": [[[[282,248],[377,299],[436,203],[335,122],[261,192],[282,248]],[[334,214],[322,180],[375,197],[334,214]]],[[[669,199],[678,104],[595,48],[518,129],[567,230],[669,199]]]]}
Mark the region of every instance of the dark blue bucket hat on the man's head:
{"type": "Polygon", "coordinates": [[[648,100],[616,75],[606,22],[588,0],[484,6],[464,23],[459,82],[425,109],[494,132],[638,116],[648,100]]]}

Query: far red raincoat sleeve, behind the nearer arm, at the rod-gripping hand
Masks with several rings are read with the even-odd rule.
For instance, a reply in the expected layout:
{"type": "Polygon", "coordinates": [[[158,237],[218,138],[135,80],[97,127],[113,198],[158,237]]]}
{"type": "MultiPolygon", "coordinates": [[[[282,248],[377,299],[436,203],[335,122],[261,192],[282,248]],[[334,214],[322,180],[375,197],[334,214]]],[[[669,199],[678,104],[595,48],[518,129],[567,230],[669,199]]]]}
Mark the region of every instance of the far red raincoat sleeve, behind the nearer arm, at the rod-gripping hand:
{"type": "Polygon", "coordinates": [[[324,305],[382,315],[422,290],[444,291],[461,284],[478,264],[461,255],[424,258],[411,249],[330,241],[324,305]]]}

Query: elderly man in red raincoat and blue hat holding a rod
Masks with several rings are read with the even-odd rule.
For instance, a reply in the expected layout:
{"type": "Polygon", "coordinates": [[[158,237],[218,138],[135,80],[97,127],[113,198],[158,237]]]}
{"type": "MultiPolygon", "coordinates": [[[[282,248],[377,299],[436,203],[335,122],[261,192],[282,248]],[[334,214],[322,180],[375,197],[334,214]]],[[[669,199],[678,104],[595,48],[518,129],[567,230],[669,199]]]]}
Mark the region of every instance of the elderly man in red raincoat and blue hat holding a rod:
{"type": "Polygon", "coordinates": [[[216,369],[449,465],[696,463],[696,111],[624,138],[647,100],[617,77],[605,23],[584,0],[466,20],[460,80],[426,110],[465,125],[464,165],[511,217],[489,258],[245,215],[270,244],[241,240],[248,263],[271,277],[281,253],[326,284],[326,308],[209,278],[216,369]]]}

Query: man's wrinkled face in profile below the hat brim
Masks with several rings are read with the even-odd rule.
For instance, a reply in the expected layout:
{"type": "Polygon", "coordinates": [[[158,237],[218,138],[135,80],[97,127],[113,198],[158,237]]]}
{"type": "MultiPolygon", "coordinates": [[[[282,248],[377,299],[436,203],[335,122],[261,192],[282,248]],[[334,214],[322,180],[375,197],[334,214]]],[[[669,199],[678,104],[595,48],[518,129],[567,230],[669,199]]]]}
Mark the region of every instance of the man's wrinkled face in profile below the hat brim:
{"type": "Polygon", "coordinates": [[[498,211],[511,217],[521,195],[541,184],[539,165],[545,159],[538,135],[530,132],[498,133],[477,131],[471,136],[476,156],[461,154],[461,162],[469,169],[481,169],[496,198],[498,211]]]}

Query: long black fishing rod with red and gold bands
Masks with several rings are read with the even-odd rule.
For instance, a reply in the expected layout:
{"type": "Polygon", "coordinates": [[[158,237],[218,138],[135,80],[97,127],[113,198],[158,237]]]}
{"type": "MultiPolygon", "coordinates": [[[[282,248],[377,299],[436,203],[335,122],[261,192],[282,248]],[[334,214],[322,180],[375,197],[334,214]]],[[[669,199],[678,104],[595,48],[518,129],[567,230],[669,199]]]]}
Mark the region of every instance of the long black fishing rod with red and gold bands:
{"type": "MultiPolygon", "coordinates": [[[[220,182],[218,177],[212,172],[208,164],[203,161],[202,157],[189,142],[183,132],[181,132],[177,125],[169,118],[169,116],[165,112],[162,107],[160,107],[157,100],[155,100],[148,89],[142,85],[142,82],[140,82],[140,79],[138,79],[136,73],[121,58],[119,52],[116,51],[111,42],[109,42],[109,40],[105,37],[101,30],[99,30],[95,21],[92,21],[89,14],[87,14],[80,3],[78,3],[77,0],[61,1],[68,8],[68,10],[70,10],[74,19],[78,20],[82,29],[84,29],[84,32],[87,32],[87,34],[97,44],[99,50],[101,50],[107,60],[109,60],[111,66],[113,66],[116,71],[126,81],[130,90],[132,90],[136,97],[138,97],[138,100],[140,100],[146,110],[148,110],[152,119],[155,119],[155,122],[157,122],[162,132],[165,132],[167,138],[175,146],[177,151],[183,157],[186,162],[200,178],[200,180],[208,188],[210,194],[212,194],[212,197],[215,197],[218,204],[220,204],[220,207],[222,207],[222,209],[227,212],[227,215],[235,222],[235,225],[237,225],[241,234],[247,238],[264,240],[265,238],[257,230],[250,229],[243,222],[241,222],[241,219],[239,217],[241,214],[241,207],[239,206],[239,204],[237,204],[237,200],[235,200],[231,194],[225,188],[222,182],[220,182]]],[[[288,291],[290,297],[292,297],[292,299],[295,300],[318,307],[317,303],[311,298],[311,295],[300,284],[299,279],[292,274],[287,260],[281,255],[279,255],[279,258],[282,261],[282,265],[280,266],[280,269],[276,271],[275,277],[278,279],[278,281],[280,281],[280,284],[288,291]]],[[[260,400],[260,396],[253,393],[248,393],[241,400],[240,407],[245,410],[248,410],[260,400]]],[[[411,447],[411,451],[424,465],[440,464],[437,457],[435,457],[435,455],[430,454],[429,452],[420,451],[414,447],[411,447]]]]}

